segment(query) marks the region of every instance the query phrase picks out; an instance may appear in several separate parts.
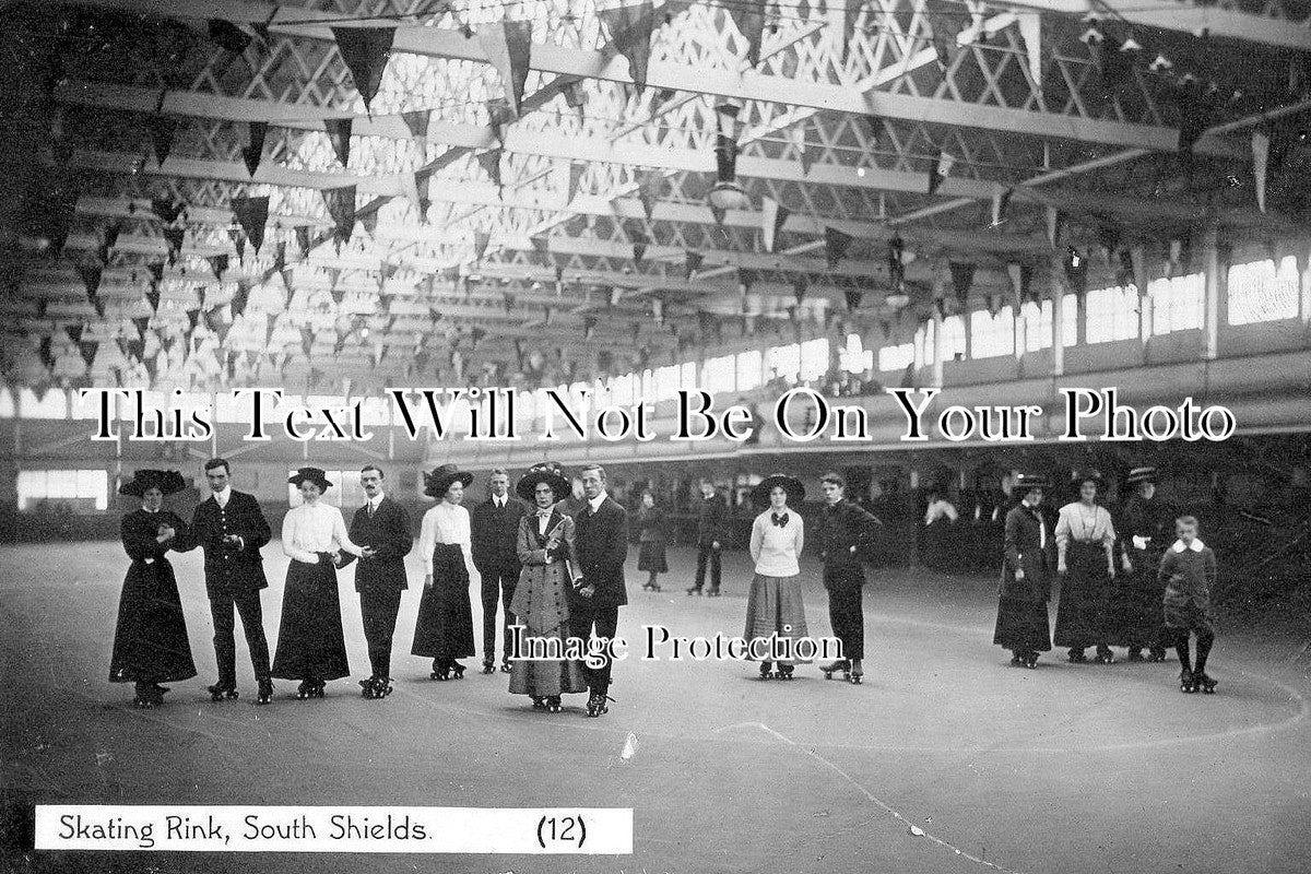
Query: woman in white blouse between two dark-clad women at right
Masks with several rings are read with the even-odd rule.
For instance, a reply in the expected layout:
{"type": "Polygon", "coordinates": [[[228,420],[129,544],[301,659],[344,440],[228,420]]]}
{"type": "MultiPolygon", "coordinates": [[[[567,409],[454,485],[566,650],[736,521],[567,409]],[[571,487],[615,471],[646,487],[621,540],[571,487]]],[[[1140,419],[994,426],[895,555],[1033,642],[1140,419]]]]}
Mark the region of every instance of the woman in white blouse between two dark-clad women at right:
{"type": "Polygon", "coordinates": [[[1110,512],[1097,504],[1101,474],[1080,473],[1074,480],[1079,501],[1061,507],[1057,520],[1057,574],[1061,575],[1061,605],[1057,609],[1054,643],[1068,647],[1068,660],[1086,662],[1084,650],[1097,647],[1097,662],[1113,664],[1108,646],[1110,586],[1116,577],[1112,546],[1116,528],[1110,512]]]}

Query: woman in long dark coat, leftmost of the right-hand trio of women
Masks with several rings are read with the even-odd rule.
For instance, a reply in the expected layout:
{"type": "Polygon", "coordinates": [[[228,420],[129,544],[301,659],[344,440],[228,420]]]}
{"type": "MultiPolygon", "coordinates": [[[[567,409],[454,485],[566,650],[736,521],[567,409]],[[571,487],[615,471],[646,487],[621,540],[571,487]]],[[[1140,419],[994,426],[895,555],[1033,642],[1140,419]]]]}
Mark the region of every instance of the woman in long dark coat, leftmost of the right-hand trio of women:
{"type": "Polygon", "coordinates": [[[1011,664],[1038,666],[1038,654],[1051,649],[1047,601],[1055,539],[1040,504],[1051,487],[1038,474],[1021,473],[1012,494],[1020,503],[1006,515],[1002,587],[992,642],[1011,650],[1011,664]]]}

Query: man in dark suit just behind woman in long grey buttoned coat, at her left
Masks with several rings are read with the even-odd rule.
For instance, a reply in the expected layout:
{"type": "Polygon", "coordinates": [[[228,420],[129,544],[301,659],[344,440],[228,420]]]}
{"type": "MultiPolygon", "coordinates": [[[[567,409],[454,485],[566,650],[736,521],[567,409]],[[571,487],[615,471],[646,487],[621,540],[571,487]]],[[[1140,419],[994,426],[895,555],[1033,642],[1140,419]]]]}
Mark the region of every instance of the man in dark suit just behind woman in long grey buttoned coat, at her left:
{"type": "Polygon", "coordinates": [[[505,621],[501,637],[501,670],[510,672],[510,601],[519,582],[519,520],[524,508],[510,494],[510,477],[501,468],[488,480],[492,493],[473,508],[469,519],[473,537],[473,566],[482,577],[482,672],[496,670],[496,608],[499,600],[505,621]]]}

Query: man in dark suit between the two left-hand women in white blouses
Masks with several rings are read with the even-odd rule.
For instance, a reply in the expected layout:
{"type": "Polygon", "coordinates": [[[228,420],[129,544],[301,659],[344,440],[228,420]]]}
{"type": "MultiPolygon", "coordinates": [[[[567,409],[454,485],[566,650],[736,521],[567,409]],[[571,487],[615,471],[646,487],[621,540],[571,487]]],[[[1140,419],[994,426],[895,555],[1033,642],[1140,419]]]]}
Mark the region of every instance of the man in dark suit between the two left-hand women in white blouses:
{"type": "Polygon", "coordinates": [[[359,472],[359,485],[368,503],[350,520],[350,541],[364,549],[355,569],[355,591],[359,592],[359,615],[364,620],[368,663],[372,675],[361,680],[366,698],[384,698],[392,692],[392,634],[401,608],[405,579],[405,556],[414,545],[409,511],[383,493],[383,470],[366,465],[359,472]]]}

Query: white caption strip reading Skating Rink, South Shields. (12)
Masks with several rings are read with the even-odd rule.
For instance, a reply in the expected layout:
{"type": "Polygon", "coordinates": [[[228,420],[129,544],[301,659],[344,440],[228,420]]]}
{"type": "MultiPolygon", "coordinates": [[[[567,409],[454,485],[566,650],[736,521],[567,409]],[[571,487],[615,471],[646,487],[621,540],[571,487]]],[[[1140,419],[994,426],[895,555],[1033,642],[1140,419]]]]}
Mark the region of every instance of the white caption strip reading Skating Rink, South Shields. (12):
{"type": "Polygon", "coordinates": [[[631,854],[631,807],[38,805],[37,849],[631,854]]]}

